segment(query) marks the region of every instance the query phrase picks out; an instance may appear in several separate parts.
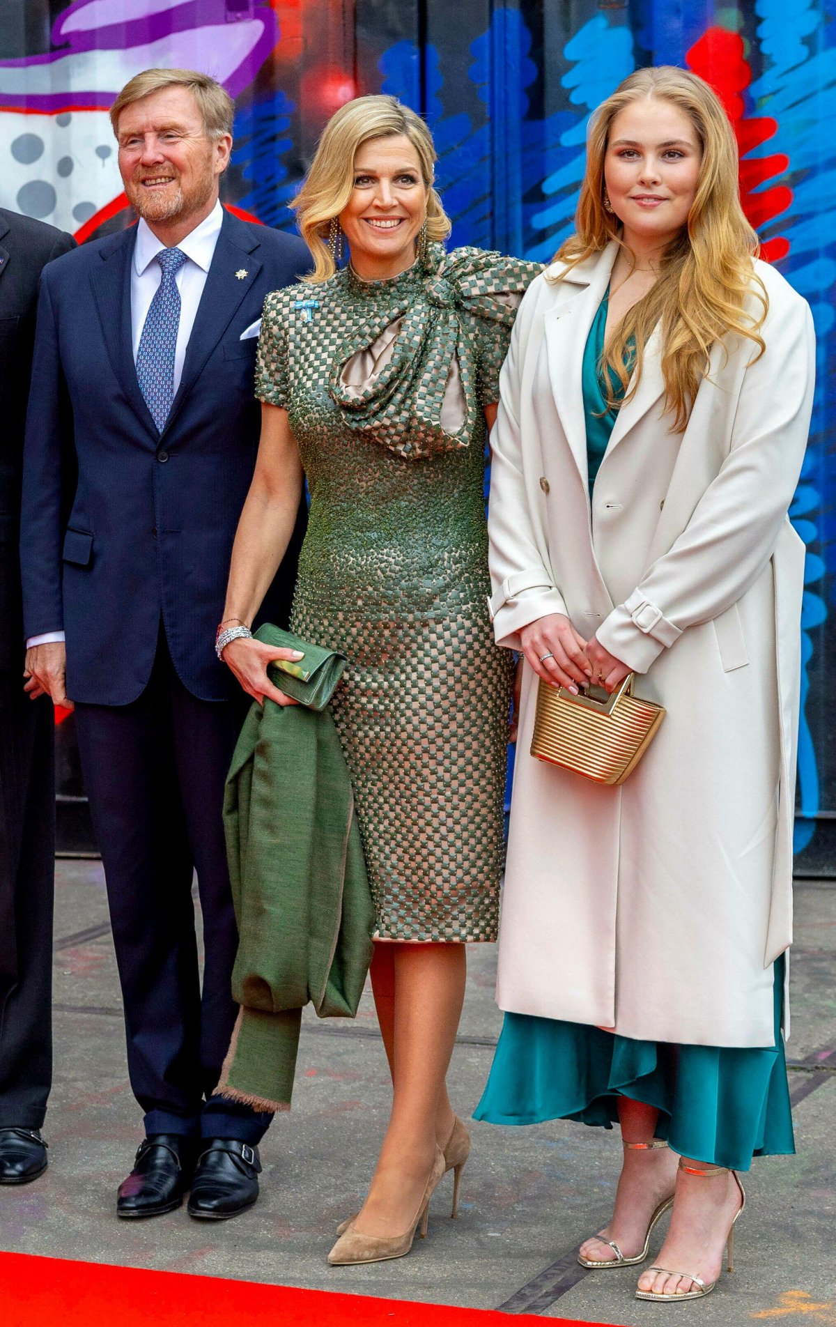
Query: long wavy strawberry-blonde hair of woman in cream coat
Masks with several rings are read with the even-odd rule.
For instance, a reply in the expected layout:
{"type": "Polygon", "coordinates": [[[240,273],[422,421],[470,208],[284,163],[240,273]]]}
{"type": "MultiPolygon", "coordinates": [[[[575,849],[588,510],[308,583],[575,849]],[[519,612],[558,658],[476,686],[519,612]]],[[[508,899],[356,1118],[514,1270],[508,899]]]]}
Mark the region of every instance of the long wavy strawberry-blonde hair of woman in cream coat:
{"type": "MultiPolygon", "coordinates": [[[[637,69],[593,113],[577,231],[555,255],[555,261],[565,265],[551,280],[563,280],[610,240],[625,247],[618,218],[604,207],[604,159],[613,119],[625,106],[644,100],[669,101],[685,111],[697,131],[702,161],[687,226],[669,245],[653,288],[625,314],[606,344],[604,366],[613,369],[625,389],[624,399],[629,399],[641,378],[648,337],[661,320],[666,410],[681,433],[707,373],[711,346],[732,333],[752,341],[759,358],[766,348],[760,326],[768,309],[763,281],[752,271],[759,243],[740,207],[731,123],[714,90],[697,74],[674,65],[637,69]],[[746,308],[750,295],[762,305],[758,316],[746,308]],[[636,345],[632,377],[630,338],[636,345]]],[[[604,377],[606,381],[606,373],[604,377]]],[[[612,391],[608,403],[617,407],[612,391]]]]}

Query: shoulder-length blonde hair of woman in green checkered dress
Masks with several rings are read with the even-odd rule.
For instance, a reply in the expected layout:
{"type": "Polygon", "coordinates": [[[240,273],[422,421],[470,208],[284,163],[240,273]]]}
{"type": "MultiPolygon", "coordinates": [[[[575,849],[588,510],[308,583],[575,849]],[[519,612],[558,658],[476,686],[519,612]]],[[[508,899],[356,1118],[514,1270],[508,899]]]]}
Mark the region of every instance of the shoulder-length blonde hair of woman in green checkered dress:
{"type": "Polygon", "coordinates": [[[314,268],[307,281],[326,281],[336,272],[328,248],[329,228],[352,196],[354,158],[360,147],[373,138],[393,135],[409,138],[418,154],[427,191],[427,239],[446,240],[450,235],[450,219],[433,187],[438,159],[435,145],[421,115],[403,106],[397,97],[356,97],[346,101],[325,125],[311,170],[291,203],[301,238],[313,255],[314,268]]]}

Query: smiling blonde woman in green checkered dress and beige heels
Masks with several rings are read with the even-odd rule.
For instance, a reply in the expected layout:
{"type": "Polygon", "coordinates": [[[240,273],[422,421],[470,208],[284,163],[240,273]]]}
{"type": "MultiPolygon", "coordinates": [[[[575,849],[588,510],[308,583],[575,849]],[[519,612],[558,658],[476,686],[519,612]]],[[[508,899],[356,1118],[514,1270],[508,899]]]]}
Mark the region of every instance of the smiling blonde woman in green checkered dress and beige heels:
{"type": "MultiPolygon", "coordinates": [[[[348,656],[333,715],[377,910],[372,985],[393,1080],[369,1194],[332,1263],[409,1253],[446,1170],[458,1190],[470,1139],[445,1079],[464,945],[498,930],[512,674],[486,610],[484,447],[539,268],[445,251],[434,161],[423,121],[391,97],[349,102],[325,127],[295,203],[313,276],[264,305],[261,442],[224,612],[252,622],[304,472],[292,626],[348,656]]],[[[243,637],[223,657],[249,695],[285,703],[269,646],[243,637]]]]}

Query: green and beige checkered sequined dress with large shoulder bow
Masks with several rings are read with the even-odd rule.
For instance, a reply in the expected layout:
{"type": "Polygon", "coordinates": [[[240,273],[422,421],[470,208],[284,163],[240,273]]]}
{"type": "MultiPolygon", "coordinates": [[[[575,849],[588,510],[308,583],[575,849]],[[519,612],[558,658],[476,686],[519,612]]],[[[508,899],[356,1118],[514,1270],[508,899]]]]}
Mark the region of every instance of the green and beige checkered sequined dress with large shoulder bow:
{"type": "Polygon", "coordinates": [[[381,940],[496,938],[512,661],[486,608],[484,406],[539,271],[433,244],[264,304],[256,394],[288,410],[311,495],[292,628],[348,657],[332,711],[381,940]]]}

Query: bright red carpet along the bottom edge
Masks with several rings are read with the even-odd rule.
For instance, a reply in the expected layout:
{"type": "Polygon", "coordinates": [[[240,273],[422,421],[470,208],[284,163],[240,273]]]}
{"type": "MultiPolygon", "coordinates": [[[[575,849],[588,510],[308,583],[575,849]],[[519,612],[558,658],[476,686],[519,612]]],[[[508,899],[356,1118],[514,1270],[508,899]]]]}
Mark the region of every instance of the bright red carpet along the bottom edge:
{"type": "Polygon", "coordinates": [[[3,1327],[604,1327],[173,1271],[0,1254],[3,1327]]]}

